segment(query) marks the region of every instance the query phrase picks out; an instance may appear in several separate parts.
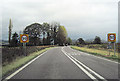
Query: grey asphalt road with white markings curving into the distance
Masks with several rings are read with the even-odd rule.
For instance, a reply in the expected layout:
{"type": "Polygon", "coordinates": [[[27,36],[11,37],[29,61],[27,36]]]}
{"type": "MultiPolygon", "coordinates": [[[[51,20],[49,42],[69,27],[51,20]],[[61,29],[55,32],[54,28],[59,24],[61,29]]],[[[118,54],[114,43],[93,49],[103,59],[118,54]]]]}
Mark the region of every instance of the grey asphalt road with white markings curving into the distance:
{"type": "Polygon", "coordinates": [[[118,63],[73,50],[69,46],[57,47],[43,53],[7,79],[115,81],[113,79],[118,79],[118,63]]]}

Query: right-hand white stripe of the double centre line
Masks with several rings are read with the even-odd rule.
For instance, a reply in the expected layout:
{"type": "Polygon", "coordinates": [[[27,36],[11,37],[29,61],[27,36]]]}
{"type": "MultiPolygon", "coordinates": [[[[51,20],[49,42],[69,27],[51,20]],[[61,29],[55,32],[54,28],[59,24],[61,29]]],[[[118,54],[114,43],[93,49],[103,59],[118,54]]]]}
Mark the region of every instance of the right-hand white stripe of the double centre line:
{"type": "MultiPolygon", "coordinates": [[[[69,54],[67,52],[65,52],[62,48],[62,51],[65,54],[69,54]]],[[[94,75],[96,75],[98,78],[100,78],[103,81],[107,81],[105,78],[103,78],[101,75],[99,75],[98,73],[96,73],[95,71],[93,71],[92,69],[90,69],[89,67],[87,67],[85,64],[83,64],[82,62],[78,61],[76,58],[74,58],[73,56],[69,55],[69,57],[71,57],[73,60],[75,60],[76,62],[78,62],[79,64],[81,64],[84,68],[86,68],[88,71],[92,72],[94,75]]]]}

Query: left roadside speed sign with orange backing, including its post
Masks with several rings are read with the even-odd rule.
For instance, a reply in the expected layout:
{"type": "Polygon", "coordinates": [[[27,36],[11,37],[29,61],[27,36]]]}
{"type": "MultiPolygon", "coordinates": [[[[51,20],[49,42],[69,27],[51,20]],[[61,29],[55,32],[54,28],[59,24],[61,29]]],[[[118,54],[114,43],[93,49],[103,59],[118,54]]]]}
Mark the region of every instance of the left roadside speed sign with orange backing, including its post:
{"type": "Polygon", "coordinates": [[[23,43],[23,52],[26,55],[26,43],[29,42],[29,35],[28,34],[20,34],[20,42],[23,43]]]}

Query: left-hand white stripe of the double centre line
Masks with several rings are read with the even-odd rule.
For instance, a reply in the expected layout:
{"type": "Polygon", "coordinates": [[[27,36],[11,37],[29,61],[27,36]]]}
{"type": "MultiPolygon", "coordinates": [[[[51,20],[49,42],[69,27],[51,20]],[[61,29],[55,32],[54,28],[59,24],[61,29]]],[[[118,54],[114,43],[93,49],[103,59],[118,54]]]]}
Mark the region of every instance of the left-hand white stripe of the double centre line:
{"type": "Polygon", "coordinates": [[[66,54],[66,52],[62,48],[62,52],[74,63],[76,64],[85,74],[87,74],[94,81],[98,81],[93,75],[91,75],[87,70],[85,70],[82,66],[80,66],[76,61],[74,61],[70,56],[66,54]]]}

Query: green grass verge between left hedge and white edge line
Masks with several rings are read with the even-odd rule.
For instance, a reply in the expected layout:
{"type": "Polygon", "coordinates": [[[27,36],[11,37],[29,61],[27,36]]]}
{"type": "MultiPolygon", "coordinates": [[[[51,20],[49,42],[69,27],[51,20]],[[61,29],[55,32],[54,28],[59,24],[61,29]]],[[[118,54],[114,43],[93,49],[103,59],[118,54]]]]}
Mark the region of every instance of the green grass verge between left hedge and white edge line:
{"type": "Polygon", "coordinates": [[[26,64],[27,62],[29,62],[30,60],[32,60],[33,58],[37,57],[38,55],[47,51],[50,48],[51,47],[45,48],[45,49],[43,49],[41,51],[38,51],[38,52],[34,52],[34,53],[32,53],[32,54],[30,54],[29,56],[26,56],[26,57],[18,57],[14,62],[11,62],[10,64],[7,64],[7,65],[2,67],[2,76],[5,76],[9,72],[12,72],[15,69],[23,66],[24,64],[26,64]]]}

